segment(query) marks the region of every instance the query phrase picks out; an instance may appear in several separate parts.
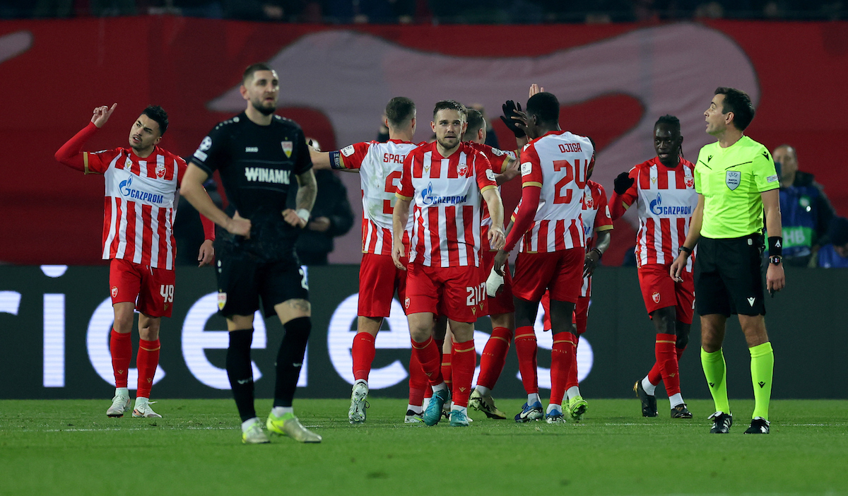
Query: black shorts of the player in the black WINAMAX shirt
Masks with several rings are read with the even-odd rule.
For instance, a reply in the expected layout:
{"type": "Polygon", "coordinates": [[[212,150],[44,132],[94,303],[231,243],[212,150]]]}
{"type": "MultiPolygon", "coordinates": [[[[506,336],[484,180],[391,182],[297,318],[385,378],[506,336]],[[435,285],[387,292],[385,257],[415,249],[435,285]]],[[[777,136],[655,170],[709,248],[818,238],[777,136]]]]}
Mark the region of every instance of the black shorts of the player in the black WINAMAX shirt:
{"type": "Polygon", "coordinates": [[[293,299],[309,299],[304,270],[297,259],[260,261],[251,254],[218,255],[218,313],[254,315],[259,298],[265,317],[276,315],[274,305],[293,299]]]}

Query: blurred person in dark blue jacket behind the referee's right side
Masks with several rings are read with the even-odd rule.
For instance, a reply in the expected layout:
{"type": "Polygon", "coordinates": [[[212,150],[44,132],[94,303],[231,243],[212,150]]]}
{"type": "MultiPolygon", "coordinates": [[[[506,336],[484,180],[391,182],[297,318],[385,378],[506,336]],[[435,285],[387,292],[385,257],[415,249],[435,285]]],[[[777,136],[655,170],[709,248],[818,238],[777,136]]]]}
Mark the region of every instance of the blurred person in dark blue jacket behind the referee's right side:
{"type": "Polygon", "coordinates": [[[795,148],[781,145],[773,153],[780,176],[780,215],[783,218],[784,265],[806,267],[812,254],[826,243],[834,217],[822,185],[812,174],[798,170],[795,148]]]}

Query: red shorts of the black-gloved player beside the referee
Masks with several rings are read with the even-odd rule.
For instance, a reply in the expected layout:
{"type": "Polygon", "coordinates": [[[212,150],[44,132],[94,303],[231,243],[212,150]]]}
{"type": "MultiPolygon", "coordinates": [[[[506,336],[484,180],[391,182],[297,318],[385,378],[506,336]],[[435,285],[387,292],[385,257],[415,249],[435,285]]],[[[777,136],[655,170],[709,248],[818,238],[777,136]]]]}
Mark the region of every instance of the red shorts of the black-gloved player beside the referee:
{"type": "Polygon", "coordinates": [[[670,265],[642,265],[639,267],[639,287],[642,288],[644,306],[650,314],[656,309],[675,307],[678,320],[692,323],[695,311],[695,283],[692,273],[683,271],[683,282],[675,282],[668,275],[670,265]]]}

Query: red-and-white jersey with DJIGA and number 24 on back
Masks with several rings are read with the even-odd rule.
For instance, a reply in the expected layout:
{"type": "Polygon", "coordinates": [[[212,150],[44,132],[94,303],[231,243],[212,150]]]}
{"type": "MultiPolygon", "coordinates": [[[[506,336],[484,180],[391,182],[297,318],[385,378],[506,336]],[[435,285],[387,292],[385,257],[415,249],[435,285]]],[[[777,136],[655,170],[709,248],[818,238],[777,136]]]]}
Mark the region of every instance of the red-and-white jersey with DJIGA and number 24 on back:
{"type": "Polygon", "coordinates": [[[585,246],[583,188],[594,148],[588,137],[550,131],[522,150],[522,187],[540,187],[536,216],[521,251],[550,253],[585,246]]]}

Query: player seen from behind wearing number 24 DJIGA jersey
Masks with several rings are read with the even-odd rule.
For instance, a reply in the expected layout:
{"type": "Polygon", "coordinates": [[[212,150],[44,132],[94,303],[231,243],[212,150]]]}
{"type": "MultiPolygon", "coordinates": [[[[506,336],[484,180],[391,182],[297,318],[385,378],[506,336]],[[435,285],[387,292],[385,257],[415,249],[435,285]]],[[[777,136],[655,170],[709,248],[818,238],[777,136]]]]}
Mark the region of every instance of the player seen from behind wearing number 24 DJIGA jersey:
{"type": "MultiPolygon", "coordinates": [[[[554,334],[551,380],[561,382],[554,387],[565,391],[568,371],[576,359],[572,314],[583,282],[583,188],[594,147],[588,137],[561,131],[560,103],[549,92],[533,95],[527,100],[527,113],[519,115],[527,126],[527,137],[533,141],[522,150],[522,201],[505,247],[495,256],[494,269],[502,275],[510,250],[521,242],[512,294],[516,305],[516,354],[527,391],[527,403],[516,415],[516,421],[524,422],[543,416],[533,323],[539,300],[549,289],[554,334]]],[[[569,402],[574,418],[583,415],[586,408],[581,397],[569,402]]],[[[553,397],[547,416],[551,422],[564,421],[562,406],[553,397]]]]}

